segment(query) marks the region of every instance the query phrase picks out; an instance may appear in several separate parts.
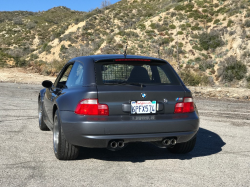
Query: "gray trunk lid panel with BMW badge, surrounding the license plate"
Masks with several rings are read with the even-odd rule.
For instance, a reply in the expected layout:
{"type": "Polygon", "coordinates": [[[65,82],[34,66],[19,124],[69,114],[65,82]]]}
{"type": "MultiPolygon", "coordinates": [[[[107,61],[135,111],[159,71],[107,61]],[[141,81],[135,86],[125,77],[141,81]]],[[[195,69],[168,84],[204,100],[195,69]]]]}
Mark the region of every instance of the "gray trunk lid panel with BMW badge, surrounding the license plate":
{"type": "MultiPolygon", "coordinates": [[[[99,85],[98,101],[107,104],[109,115],[130,115],[131,101],[156,101],[156,114],[173,114],[177,98],[184,98],[182,86],[145,85],[99,85]],[[146,98],[142,98],[146,94],[146,98]]],[[[136,114],[138,115],[138,114],[136,114]]]]}

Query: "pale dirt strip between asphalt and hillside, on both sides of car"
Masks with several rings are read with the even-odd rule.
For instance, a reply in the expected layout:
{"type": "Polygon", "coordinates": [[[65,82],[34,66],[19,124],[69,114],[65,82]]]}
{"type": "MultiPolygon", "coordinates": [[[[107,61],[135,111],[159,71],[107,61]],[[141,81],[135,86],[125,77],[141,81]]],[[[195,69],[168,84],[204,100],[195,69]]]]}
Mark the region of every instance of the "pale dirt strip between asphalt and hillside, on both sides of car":
{"type": "MultiPolygon", "coordinates": [[[[12,82],[21,84],[41,84],[44,80],[54,82],[56,77],[44,76],[33,73],[32,70],[22,68],[0,68],[0,82],[12,82]]],[[[188,86],[195,97],[248,100],[250,101],[250,89],[229,87],[194,87],[188,86]]]]}

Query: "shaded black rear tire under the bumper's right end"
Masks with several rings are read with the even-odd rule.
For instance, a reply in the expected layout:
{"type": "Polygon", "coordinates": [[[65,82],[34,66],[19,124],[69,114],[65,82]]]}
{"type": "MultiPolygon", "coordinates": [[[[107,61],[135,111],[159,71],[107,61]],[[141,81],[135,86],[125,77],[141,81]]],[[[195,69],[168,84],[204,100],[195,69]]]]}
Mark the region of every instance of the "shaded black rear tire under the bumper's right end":
{"type": "Polygon", "coordinates": [[[187,142],[178,143],[174,147],[169,147],[168,150],[171,153],[176,153],[176,154],[189,153],[190,151],[194,149],[195,143],[196,143],[196,135],[187,142]]]}

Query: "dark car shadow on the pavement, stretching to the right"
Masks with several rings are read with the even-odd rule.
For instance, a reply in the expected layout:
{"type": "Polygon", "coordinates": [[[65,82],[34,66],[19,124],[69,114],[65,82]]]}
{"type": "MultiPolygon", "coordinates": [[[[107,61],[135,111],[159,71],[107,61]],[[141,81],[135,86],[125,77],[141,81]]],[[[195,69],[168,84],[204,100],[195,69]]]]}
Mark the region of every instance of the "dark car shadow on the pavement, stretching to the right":
{"type": "Polygon", "coordinates": [[[120,151],[107,149],[82,148],[79,160],[99,159],[106,161],[144,162],[158,159],[192,159],[195,157],[209,156],[219,153],[226,143],[220,136],[212,131],[200,128],[195,148],[187,154],[173,154],[167,149],[158,148],[151,143],[130,143],[120,151]]]}

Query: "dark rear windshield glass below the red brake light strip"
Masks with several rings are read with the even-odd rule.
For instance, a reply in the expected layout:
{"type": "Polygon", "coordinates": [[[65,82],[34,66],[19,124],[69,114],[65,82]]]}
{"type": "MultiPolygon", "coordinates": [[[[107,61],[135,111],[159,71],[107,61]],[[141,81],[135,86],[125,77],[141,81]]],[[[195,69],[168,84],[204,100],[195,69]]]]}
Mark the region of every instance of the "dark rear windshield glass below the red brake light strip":
{"type": "Polygon", "coordinates": [[[99,85],[115,84],[166,84],[180,85],[178,78],[165,62],[97,62],[96,82],[99,85]]]}

